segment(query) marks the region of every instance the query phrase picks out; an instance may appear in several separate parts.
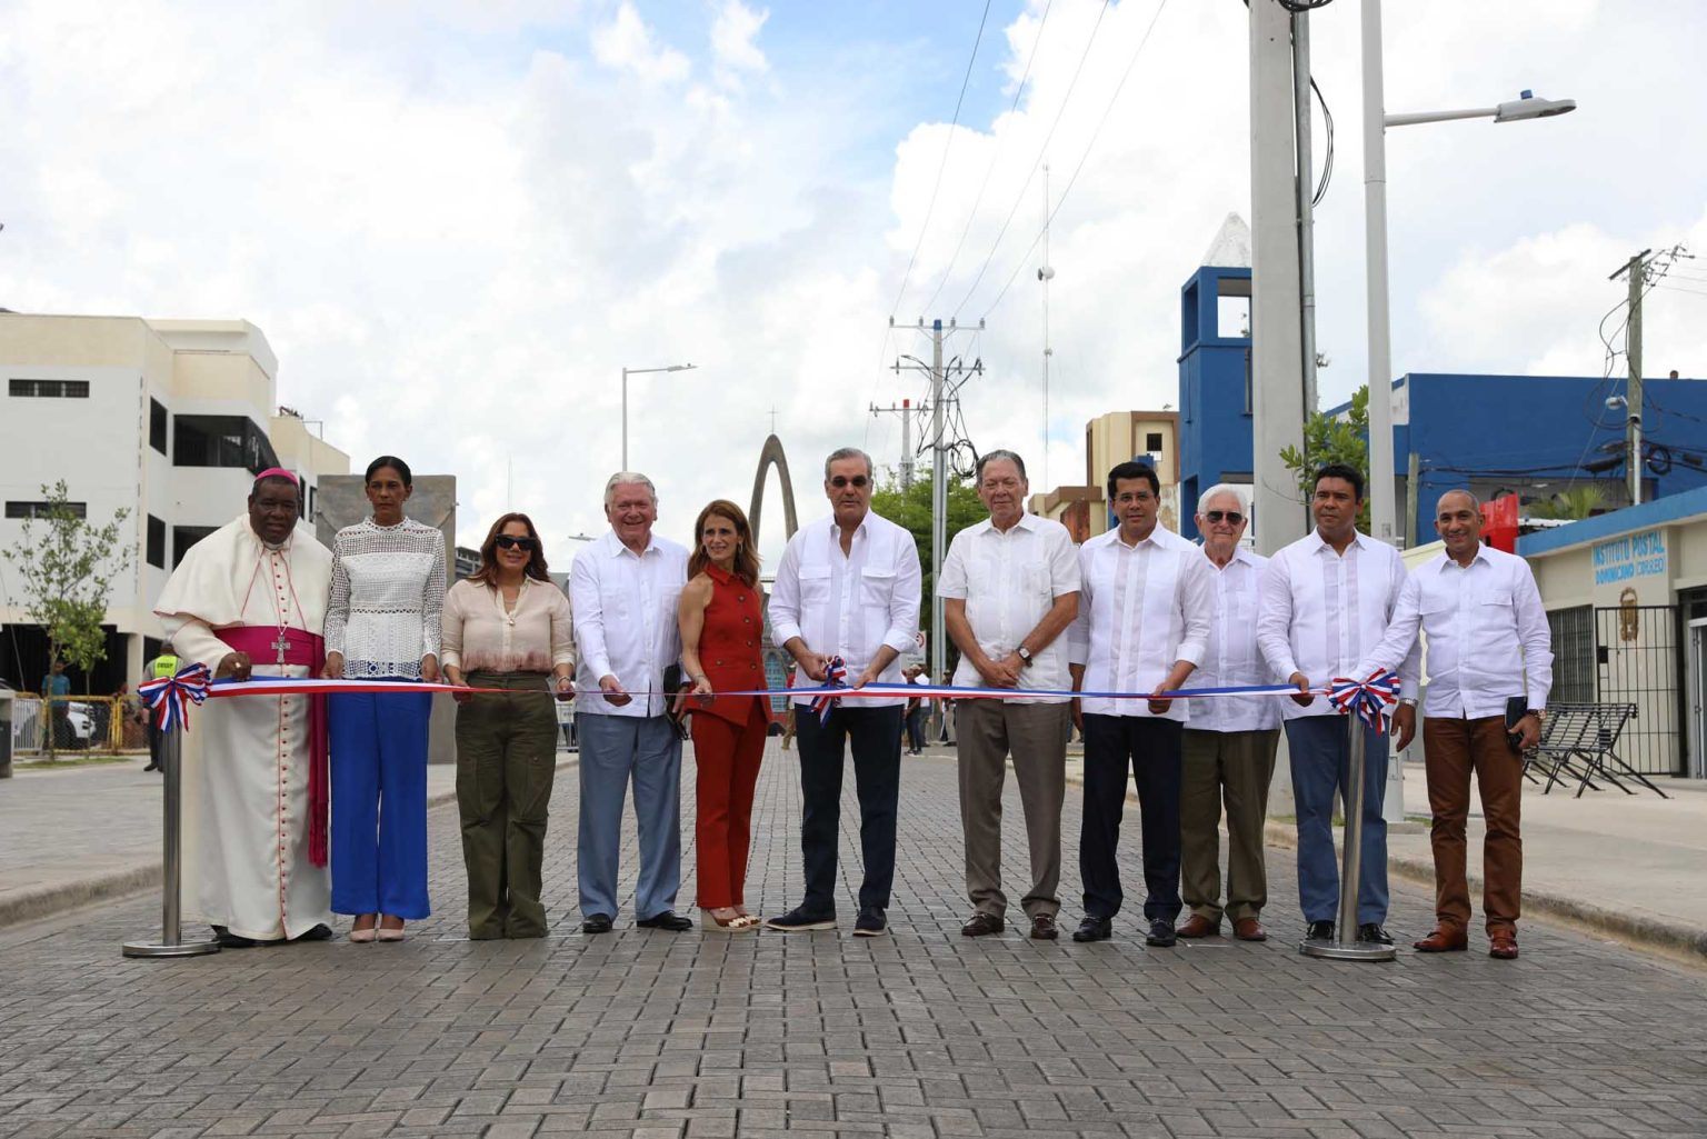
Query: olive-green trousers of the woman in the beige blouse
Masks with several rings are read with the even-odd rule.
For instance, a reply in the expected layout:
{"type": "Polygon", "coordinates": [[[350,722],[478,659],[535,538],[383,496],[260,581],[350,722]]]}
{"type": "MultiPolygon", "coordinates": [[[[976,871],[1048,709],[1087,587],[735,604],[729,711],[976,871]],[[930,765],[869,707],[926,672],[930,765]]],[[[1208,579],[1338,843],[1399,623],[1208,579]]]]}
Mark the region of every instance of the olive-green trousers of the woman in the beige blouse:
{"type": "Polygon", "coordinates": [[[456,709],[456,804],[468,867],[468,936],[543,937],[539,879],[556,777],[556,712],[545,673],[469,673],[456,709]]]}

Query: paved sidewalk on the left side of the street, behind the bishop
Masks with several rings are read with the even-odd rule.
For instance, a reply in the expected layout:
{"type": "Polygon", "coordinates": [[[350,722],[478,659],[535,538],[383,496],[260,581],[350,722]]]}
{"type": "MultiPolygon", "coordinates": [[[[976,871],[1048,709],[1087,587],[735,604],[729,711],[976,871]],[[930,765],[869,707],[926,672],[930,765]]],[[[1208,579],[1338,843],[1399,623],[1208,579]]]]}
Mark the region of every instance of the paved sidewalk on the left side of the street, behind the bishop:
{"type": "MultiPolygon", "coordinates": [[[[558,753],[558,767],[574,762],[558,753]]],[[[14,767],[0,780],[0,927],[160,885],[160,777],[145,756],[14,767]]],[[[456,765],[427,768],[427,804],[456,799],[456,765]]]]}

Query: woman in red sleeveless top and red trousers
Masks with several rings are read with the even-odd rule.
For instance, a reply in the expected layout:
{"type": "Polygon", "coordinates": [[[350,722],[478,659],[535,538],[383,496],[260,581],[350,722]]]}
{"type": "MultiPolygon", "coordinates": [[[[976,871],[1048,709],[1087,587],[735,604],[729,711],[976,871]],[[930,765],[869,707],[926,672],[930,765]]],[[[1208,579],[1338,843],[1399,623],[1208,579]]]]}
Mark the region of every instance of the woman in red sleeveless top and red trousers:
{"type": "Polygon", "coordinates": [[[770,729],[765,697],[719,697],[719,692],[765,686],[765,611],[758,586],[758,552],[746,514],[719,499],[700,511],[681,591],[681,664],[691,680],[693,758],[698,767],[695,847],[698,850],[700,926],[754,932],[746,912],[748,847],[753,787],[770,729]]]}

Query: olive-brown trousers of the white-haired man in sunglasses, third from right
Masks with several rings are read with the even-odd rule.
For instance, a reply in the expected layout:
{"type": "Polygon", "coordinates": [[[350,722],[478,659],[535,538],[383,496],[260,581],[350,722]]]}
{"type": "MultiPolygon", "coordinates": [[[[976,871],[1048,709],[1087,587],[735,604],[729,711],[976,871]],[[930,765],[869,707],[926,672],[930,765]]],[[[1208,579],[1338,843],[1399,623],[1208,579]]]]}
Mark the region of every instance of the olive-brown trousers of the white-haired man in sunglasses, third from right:
{"type": "Polygon", "coordinates": [[[1180,897],[1221,924],[1258,917],[1268,903],[1263,820],[1280,731],[1185,729],[1180,780],[1180,897]],[[1227,905],[1221,905],[1221,806],[1227,804],[1227,905]]]}

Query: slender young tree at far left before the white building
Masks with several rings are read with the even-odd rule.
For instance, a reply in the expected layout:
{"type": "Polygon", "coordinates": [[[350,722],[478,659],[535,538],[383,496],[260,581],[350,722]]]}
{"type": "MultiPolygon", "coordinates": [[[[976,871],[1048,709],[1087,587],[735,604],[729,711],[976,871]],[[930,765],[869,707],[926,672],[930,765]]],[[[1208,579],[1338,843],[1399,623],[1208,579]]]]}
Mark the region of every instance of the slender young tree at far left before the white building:
{"type": "MultiPolygon", "coordinates": [[[[24,579],[24,611],[48,634],[50,664],[89,669],[106,659],[108,596],[113,579],[130,565],[130,546],[119,543],[119,524],[130,511],[119,509],[106,526],[92,526],[72,511],[70,492],[61,478],[43,487],[48,507],[22,524],[17,546],[0,550],[24,579]]],[[[55,733],[48,731],[48,756],[53,758],[55,733]]]]}

